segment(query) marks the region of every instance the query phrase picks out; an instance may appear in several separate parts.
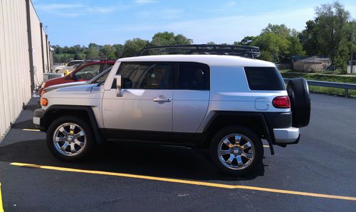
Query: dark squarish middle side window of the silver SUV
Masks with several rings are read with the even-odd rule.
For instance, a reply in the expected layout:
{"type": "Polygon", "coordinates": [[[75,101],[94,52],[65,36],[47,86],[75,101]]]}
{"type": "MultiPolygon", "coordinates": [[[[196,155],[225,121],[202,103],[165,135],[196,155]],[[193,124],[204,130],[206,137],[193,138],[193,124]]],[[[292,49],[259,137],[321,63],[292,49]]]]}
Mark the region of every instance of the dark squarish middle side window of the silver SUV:
{"type": "Polygon", "coordinates": [[[201,63],[180,63],[177,89],[209,90],[209,66],[201,63]]]}

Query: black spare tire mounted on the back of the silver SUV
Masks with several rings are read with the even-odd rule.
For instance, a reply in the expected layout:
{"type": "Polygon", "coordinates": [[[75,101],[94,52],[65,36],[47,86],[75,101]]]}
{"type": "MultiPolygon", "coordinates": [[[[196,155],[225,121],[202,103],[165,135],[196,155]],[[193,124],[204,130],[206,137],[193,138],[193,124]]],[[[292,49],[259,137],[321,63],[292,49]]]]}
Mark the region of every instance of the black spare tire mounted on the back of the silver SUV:
{"type": "Polygon", "coordinates": [[[304,78],[290,79],[287,85],[292,110],[293,127],[308,126],[310,120],[310,95],[304,78]]]}

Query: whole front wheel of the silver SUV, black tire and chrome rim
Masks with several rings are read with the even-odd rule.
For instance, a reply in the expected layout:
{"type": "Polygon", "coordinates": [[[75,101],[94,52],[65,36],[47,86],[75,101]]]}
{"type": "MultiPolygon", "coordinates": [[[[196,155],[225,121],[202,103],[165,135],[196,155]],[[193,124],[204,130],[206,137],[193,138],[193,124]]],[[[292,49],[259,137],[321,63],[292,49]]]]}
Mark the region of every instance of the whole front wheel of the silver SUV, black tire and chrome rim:
{"type": "Polygon", "coordinates": [[[47,146],[62,161],[85,159],[94,149],[95,141],[89,125],[80,117],[60,117],[47,130],[47,146]]]}

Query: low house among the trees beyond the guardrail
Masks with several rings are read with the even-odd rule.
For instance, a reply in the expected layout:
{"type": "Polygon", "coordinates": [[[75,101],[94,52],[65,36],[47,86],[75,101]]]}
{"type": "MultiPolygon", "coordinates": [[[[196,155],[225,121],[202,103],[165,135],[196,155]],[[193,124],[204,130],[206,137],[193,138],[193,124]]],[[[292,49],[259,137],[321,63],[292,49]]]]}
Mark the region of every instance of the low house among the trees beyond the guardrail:
{"type": "Polygon", "coordinates": [[[331,65],[330,58],[313,56],[293,62],[293,70],[298,71],[320,71],[325,70],[331,65]]]}

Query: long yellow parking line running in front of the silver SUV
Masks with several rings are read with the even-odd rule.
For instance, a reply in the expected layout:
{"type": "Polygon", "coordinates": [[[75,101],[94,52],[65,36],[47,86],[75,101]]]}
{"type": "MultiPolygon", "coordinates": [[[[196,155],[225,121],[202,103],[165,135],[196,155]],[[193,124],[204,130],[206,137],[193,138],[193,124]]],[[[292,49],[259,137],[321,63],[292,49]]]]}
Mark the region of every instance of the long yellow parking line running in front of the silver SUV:
{"type": "Polygon", "coordinates": [[[299,196],[313,196],[313,197],[320,197],[320,198],[335,198],[335,199],[342,199],[342,200],[350,200],[356,201],[356,197],[352,196],[337,196],[337,195],[328,195],[328,194],[317,194],[317,193],[308,193],[308,192],[301,192],[301,191],[289,191],[289,190],[282,190],[282,189],[268,189],[262,187],[255,187],[255,186],[235,186],[235,185],[227,185],[227,184],[214,184],[202,181],[191,181],[191,180],[183,180],[183,179],[170,179],[170,178],[163,178],[157,176],[145,176],[145,175],[136,175],[136,174],[123,174],[123,173],[115,173],[109,171],[93,171],[93,170],[85,170],[85,169],[70,169],[58,166],[41,166],[37,164],[22,164],[22,163],[11,163],[14,166],[26,166],[38,169],[48,169],[48,170],[56,170],[56,171],[70,171],[76,173],[86,173],[86,174],[102,174],[102,175],[109,175],[109,176],[123,176],[123,177],[130,177],[135,179],[149,179],[154,181],[166,181],[172,183],[179,183],[179,184],[190,184],[190,185],[197,185],[197,186],[210,186],[210,187],[217,187],[217,188],[224,188],[224,189],[246,189],[246,190],[253,190],[253,191],[266,191],[272,193],[279,193],[279,194],[293,194],[299,196]]]}

